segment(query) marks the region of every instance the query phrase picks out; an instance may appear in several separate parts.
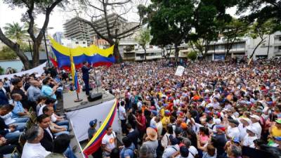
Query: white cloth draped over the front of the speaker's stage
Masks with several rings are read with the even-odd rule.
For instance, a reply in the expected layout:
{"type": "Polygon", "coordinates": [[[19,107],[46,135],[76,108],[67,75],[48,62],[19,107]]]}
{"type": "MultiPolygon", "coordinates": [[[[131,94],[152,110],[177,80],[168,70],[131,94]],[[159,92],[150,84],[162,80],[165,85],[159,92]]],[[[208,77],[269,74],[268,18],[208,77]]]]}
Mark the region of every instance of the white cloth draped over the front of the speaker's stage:
{"type": "MultiPolygon", "coordinates": [[[[115,100],[110,100],[99,105],[93,105],[91,107],[86,107],[79,110],[74,110],[72,112],[67,112],[67,118],[72,121],[73,130],[76,138],[79,141],[88,139],[88,129],[89,122],[93,119],[98,119],[96,130],[103,124],[103,121],[110,112],[115,100]]],[[[116,111],[115,119],[112,123],[113,131],[119,133],[121,126],[118,124],[118,114],[116,111]]]]}

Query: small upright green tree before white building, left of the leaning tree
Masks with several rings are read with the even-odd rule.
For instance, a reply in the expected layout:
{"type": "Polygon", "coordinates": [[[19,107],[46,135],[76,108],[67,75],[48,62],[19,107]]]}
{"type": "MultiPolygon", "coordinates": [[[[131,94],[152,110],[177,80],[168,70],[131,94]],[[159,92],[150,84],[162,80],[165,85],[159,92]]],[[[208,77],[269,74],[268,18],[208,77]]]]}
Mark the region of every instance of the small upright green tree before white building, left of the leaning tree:
{"type": "Polygon", "coordinates": [[[223,22],[221,24],[221,34],[226,40],[226,53],[227,57],[230,49],[233,47],[235,41],[240,40],[248,31],[248,24],[242,20],[233,18],[230,22],[223,22]]]}

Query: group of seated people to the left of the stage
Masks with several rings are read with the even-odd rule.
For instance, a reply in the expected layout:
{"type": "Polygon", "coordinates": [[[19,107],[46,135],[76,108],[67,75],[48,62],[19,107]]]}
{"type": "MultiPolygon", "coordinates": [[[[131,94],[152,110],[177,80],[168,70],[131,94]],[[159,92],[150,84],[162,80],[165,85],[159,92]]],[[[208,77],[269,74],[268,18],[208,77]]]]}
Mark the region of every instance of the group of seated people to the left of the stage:
{"type": "Polygon", "coordinates": [[[76,158],[72,129],[58,107],[63,75],[44,67],[39,75],[0,80],[0,157],[76,158]]]}

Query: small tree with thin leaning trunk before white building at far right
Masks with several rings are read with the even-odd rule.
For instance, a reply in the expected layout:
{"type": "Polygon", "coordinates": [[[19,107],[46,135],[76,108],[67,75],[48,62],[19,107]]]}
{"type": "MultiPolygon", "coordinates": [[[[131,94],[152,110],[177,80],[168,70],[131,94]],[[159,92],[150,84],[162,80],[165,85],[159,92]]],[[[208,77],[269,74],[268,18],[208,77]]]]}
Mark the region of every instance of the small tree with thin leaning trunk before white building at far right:
{"type": "Polygon", "coordinates": [[[254,48],[253,52],[251,53],[250,58],[254,57],[254,53],[256,52],[256,49],[259,48],[259,46],[263,43],[266,42],[266,38],[268,34],[272,32],[272,30],[275,28],[275,24],[273,21],[268,20],[267,22],[264,23],[259,23],[259,22],[254,22],[253,25],[250,27],[250,32],[249,32],[249,37],[252,39],[257,39],[259,38],[260,41],[254,48]]]}

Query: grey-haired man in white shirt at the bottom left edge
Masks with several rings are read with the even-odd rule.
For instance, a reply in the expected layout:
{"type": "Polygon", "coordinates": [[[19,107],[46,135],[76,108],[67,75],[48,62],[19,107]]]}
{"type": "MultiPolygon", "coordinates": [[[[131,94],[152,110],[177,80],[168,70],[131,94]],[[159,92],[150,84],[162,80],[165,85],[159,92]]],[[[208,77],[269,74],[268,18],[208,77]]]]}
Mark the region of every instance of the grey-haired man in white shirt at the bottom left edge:
{"type": "Polygon", "coordinates": [[[22,149],[22,158],[44,158],[51,152],[45,150],[40,140],[44,131],[39,126],[32,126],[26,133],[27,142],[22,149]]]}

